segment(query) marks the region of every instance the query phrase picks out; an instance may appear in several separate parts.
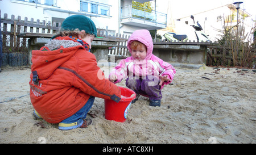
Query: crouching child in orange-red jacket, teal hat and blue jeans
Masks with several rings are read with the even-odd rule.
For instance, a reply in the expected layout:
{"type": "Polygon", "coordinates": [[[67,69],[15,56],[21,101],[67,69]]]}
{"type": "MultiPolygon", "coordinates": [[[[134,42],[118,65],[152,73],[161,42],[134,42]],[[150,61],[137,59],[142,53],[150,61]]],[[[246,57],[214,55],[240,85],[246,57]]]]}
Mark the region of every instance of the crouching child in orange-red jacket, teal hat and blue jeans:
{"type": "Polygon", "coordinates": [[[59,123],[63,130],[84,128],[92,123],[85,118],[95,97],[120,100],[118,86],[97,78],[100,68],[89,52],[96,36],[91,19],[73,15],[64,20],[49,43],[32,51],[29,84],[36,119],[59,123]]]}

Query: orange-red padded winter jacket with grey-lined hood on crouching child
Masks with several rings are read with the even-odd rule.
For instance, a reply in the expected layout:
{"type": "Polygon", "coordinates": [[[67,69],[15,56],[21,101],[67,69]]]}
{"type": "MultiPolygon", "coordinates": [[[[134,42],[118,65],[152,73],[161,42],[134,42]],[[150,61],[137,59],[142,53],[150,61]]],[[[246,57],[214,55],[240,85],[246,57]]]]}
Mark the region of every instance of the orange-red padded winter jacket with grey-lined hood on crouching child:
{"type": "Polygon", "coordinates": [[[60,123],[82,108],[92,95],[118,100],[118,86],[103,78],[96,57],[70,37],[57,37],[32,51],[30,99],[49,123],[60,123]]]}

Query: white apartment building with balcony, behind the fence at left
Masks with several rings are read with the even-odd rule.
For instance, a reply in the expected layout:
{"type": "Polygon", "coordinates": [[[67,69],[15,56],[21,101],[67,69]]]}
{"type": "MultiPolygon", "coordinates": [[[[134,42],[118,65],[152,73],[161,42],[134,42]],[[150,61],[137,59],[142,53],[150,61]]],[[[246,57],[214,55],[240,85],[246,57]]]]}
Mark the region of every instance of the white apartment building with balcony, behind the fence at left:
{"type": "MultiPolygon", "coordinates": [[[[148,1],[137,1],[148,2],[148,1]]],[[[34,18],[60,26],[65,18],[80,14],[88,16],[103,30],[104,35],[122,33],[130,35],[135,30],[159,30],[166,28],[166,14],[154,10],[138,9],[132,0],[3,0],[0,1],[1,17],[8,14],[21,16],[22,20],[34,18]]]]}

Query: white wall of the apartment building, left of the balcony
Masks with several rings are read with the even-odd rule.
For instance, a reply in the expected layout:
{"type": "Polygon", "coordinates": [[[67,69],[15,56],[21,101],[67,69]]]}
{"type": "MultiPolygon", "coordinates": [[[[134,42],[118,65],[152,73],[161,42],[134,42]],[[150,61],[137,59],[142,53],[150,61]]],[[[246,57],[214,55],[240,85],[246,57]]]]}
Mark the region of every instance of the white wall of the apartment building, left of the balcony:
{"type": "MultiPolygon", "coordinates": [[[[114,30],[116,32],[118,31],[118,27],[119,27],[118,1],[119,0],[111,0],[111,1],[97,0],[97,2],[112,5],[110,6],[110,16],[103,16],[103,15],[100,17],[88,16],[93,20],[97,28],[105,29],[106,26],[108,26],[109,30],[114,30]],[[111,3],[108,3],[108,2],[111,2],[111,3]]],[[[73,15],[73,14],[68,14],[64,12],[44,10],[44,8],[80,12],[80,1],[78,0],[57,0],[57,6],[58,7],[46,6],[46,5],[36,6],[35,3],[15,1],[15,0],[0,1],[1,17],[3,18],[3,15],[6,13],[8,14],[9,19],[11,18],[11,15],[15,15],[15,19],[17,19],[18,16],[21,16],[22,20],[24,20],[24,18],[27,17],[29,21],[31,18],[34,18],[34,21],[36,21],[36,19],[39,19],[40,22],[42,22],[43,20],[46,20],[46,22],[47,21],[52,22],[52,17],[65,19],[68,16],[73,15]]]]}

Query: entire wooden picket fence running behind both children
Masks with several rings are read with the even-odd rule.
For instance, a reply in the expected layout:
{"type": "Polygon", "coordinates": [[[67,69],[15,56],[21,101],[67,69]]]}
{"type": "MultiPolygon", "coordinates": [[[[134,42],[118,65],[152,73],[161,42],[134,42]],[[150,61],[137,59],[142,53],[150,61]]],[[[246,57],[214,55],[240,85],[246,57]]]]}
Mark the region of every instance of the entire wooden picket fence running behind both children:
{"type": "MultiPolygon", "coordinates": [[[[58,24],[61,26],[61,23],[58,24]]],[[[20,56],[20,53],[24,53],[24,55],[28,52],[28,41],[26,37],[17,37],[20,33],[26,32],[36,32],[36,33],[56,33],[59,30],[59,27],[56,27],[56,23],[46,22],[43,20],[42,22],[37,19],[36,21],[31,18],[28,20],[27,17],[24,19],[21,16],[18,16],[15,19],[14,15],[11,15],[11,18],[8,18],[7,14],[4,14],[3,18],[1,18],[1,26],[2,26],[2,41],[3,41],[3,65],[9,64],[11,66],[15,66],[15,64],[24,64],[27,65],[27,60],[19,60],[25,59],[26,56],[20,56]],[[3,23],[3,24],[2,24],[3,23]],[[10,54],[11,53],[11,54],[10,54]],[[16,54],[15,54],[16,53],[16,54]],[[18,59],[18,60],[17,60],[18,59]],[[17,62],[11,62],[11,61],[17,62]]],[[[108,55],[109,56],[117,56],[117,57],[128,57],[130,56],[130,52],[127,49],[127,40],[130,36],[121,35],[116,33],[115,36],[101,36],[102,31],[97,30],[97,35],[99,37],[107,37],[112,40],[117,40],[117,47],[109,47],[108,55]],[[118,41],[118,40],[125,41],[118,41]]],[[[174,42],[163,42],[163,40],[154,40],[154,45],[156,44],[168,44],[168,45],[204,45],[207,46],[207,64],[206,65],[221,65],[223,60],[227,61],[230,65],[232,62],[232,56],[228,52],[223,52],[224,50],[221,47],[218,47],[216,42],[197,42],[197,41],[174,41],[174,42]]],[[[28,59],[28,58],[27,58],[28,59]]]]}

